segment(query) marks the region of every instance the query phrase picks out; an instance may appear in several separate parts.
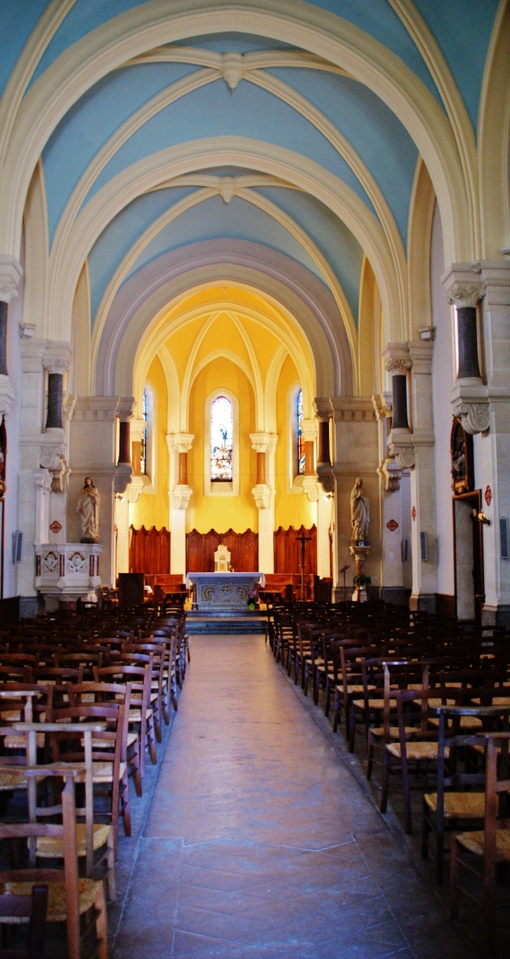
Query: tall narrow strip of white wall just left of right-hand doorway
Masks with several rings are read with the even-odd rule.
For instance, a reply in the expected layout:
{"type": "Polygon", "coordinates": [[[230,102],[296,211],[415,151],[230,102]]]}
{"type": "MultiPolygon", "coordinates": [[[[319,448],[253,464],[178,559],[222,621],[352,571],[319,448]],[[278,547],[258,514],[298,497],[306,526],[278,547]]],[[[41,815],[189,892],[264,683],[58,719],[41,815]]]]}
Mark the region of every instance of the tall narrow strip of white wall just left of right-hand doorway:
{"type": "Polygon", "coordinates": [[[453,387],[453,352],[450,307],[441,283],[441,276],[444,271],[443,229],[439,206],[436,203],[430,250],[430,295],[432,325],[435,327],[434,352],[432,355],[432,411],[435,436],[437,591],[453,596],[453,521],[451,514],[451,474],[449,472],[449,436],[452,423],[449,394],[453,387]]]}

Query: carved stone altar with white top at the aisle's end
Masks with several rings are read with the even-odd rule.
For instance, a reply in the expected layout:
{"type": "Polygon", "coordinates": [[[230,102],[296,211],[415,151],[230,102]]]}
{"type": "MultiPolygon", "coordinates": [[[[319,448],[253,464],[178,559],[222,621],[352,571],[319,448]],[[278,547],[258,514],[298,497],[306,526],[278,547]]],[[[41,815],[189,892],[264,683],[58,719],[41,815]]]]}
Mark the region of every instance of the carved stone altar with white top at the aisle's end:
{"type": "Polygon", "coordinates": [[[186,588],[194,589],[201,612],[240,612],[248,609],[248,594],[264,588],[264,573],[187,573],[186,588]]]}

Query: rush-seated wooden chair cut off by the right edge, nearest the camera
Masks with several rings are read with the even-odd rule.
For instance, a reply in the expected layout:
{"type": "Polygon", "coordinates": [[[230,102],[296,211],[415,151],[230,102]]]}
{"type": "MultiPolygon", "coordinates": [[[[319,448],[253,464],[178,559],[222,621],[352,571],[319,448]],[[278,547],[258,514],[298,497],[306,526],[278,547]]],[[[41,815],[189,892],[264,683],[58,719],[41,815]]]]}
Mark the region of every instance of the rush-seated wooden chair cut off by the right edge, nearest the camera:
{"type": "Polygon", "coordinates": [[[496,878],[497,867],[510,862],[510,819],[508,798],[508,740],[510,733],[478,734],[485,738],[485,816],[483,831],[461,832],[451,836],[449,913],[456,919],[459,910],[459,892],[474,899],[471,890],[459,884],[460,869],[480,877],[483,881],[486,942],[488,951],[496,952],[496,878]],[[499,749],[497,742],[499,741],[499,749]],[[498,755],[499,754],[499,755],[498,755]],[[498,760],[501,778],[498,779],[498,760]],[[504,800],[504,802],[503,802],[504,800]],[[501,812],[503,816],[501,816],[501,812]],[[475,869],[465,857],[472,854],[482,859],[482,871],[475,869]]]}

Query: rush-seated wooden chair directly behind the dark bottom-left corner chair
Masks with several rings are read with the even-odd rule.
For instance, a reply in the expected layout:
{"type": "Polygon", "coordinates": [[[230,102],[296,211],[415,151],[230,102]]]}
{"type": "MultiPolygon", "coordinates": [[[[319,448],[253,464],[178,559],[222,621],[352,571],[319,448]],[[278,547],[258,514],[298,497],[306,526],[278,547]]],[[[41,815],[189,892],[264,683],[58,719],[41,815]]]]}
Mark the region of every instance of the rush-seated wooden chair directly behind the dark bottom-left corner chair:
{"type": "MultiPolygon", "coordinates": [[[[44,767],[27,766],[25,774],[28,778],[40,779],[44,775],[44,767]]],[[[0,883],[4,895],[12,896],[30,896],[34,887],[41,884],[48,886],[47,922],[66,924],[69,959],[81,959],[80,916],[94,908],[91,923],[95,924],[97,955],[99,959],[108,959],[107,907],[103,882],[78,877],[74,780],[79,774],[79,768],[65,765],[53,766],[48,771],[48,775],[61,776],[64,780],[61,825],[0,823],[0,839],[22,838],[30,841],[39,836],[61,838],[64,848],[63,874],[55,869],[6,870],[0,872],[0,883]]],[[[5,916],[3,922],[6,922],[5,916]]],[[[85,933],[91,923],[85,925],[85,933]]]]}

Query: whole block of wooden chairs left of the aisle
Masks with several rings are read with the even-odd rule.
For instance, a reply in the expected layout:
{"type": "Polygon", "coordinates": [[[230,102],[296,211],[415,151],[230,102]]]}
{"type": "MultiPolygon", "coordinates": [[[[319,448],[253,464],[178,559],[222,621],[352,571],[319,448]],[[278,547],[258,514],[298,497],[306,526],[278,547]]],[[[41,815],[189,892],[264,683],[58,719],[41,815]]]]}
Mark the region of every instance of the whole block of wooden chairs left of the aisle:
{"type": "Polygon", "coordinates": [[[70,959],[90,942],[106,959],[104,884],[114,900],[119,821],[131,834],[129,778],[142,795],[187,663],[182,607],[63,613],[0,634],[6,959],[41,959],[46,921],[65,922],[70,959]],[[27,921],[24,951],[12,952],[27,921]]]}

